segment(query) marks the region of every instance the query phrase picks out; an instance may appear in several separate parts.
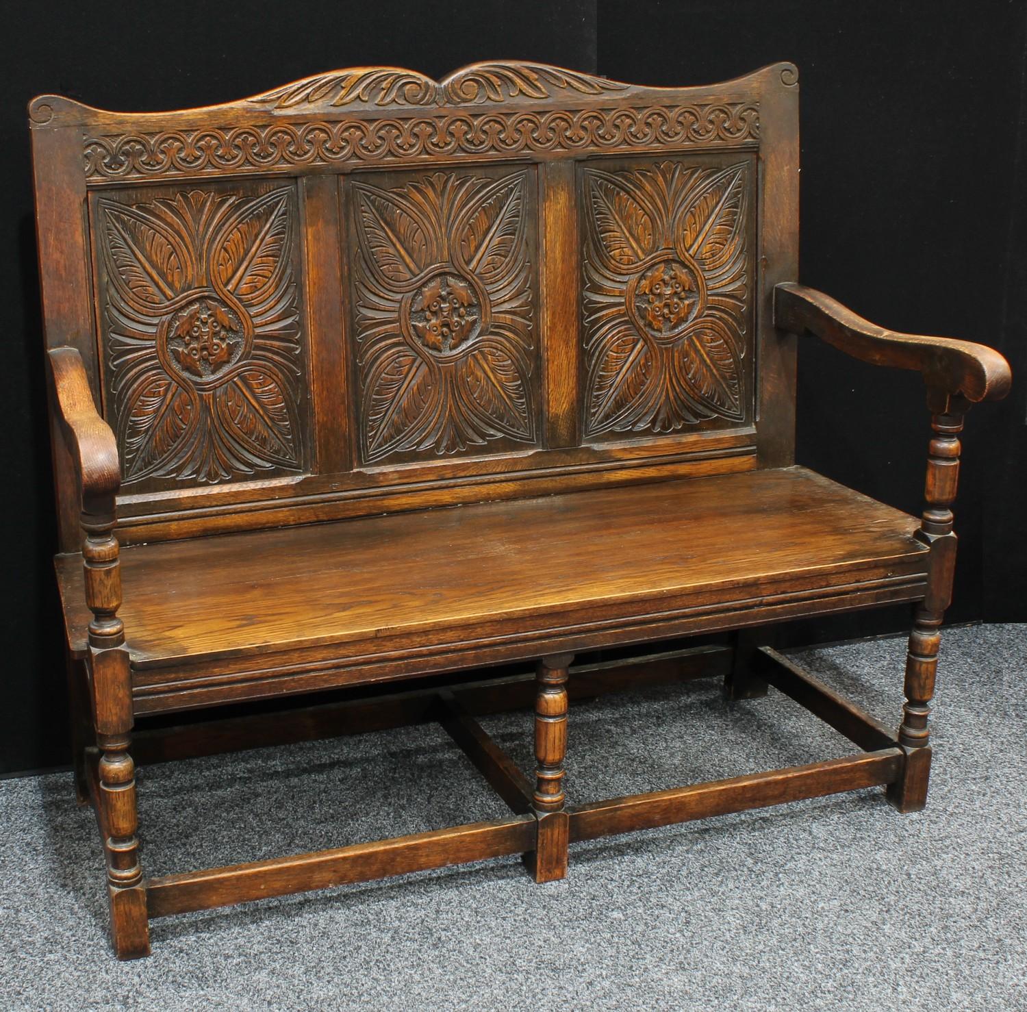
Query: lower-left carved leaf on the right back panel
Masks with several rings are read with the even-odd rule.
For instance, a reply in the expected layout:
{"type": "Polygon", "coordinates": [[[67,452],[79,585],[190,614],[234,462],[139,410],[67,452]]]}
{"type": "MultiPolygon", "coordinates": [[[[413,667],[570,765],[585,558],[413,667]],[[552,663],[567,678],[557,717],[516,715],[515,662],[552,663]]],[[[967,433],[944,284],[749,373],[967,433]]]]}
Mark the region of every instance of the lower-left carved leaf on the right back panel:
{"type": "Polygon", "coordinates": [[[588,434],[630,427],[652,374],[652,351],[633,331],[615,331],[602,342],[588,376],[588,434]]]}

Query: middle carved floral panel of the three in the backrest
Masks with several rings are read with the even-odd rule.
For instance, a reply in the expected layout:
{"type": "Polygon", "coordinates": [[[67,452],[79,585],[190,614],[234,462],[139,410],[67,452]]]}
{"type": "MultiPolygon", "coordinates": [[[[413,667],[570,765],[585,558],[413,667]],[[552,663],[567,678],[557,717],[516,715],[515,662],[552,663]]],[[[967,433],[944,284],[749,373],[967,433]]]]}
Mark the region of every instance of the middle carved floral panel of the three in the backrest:
{"type": "Polygon", "coordinates": [[[352,184],[365,460],[534,443],[528,181],[352,184]]]}

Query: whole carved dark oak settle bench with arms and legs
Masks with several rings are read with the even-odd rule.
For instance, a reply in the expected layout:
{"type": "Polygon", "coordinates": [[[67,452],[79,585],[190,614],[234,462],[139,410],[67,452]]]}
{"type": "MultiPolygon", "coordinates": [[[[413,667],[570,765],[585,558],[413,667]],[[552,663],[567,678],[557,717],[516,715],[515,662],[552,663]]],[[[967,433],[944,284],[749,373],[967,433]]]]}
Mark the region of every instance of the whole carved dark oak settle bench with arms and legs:
{"type": "Polygon", "coordinates": [[[958,436],[1010,373],[796,283],[797,80],[489,63],[181,112],[31,104],[76,782],[119,955],[151,917],[259,897],[518,853],[544,882],[574,840],[870,785],[922,808],[958,436]],[[794,464],[797,335],[923,374],[922,518],[794,464]],[[896,733],[768,645],[906,601],[896,733]],[[511,662],[537,674],[459,674],[511,662]],[[565,802],[569,695],[700,669],[862,751],[565,802]],[[134,735],[328,689],[348,695],[134,735]],[[534,782],[474,719],[532,702],[534,782]],[[136,760],[430,720],[509,818],[144,874],[136,760]]]}

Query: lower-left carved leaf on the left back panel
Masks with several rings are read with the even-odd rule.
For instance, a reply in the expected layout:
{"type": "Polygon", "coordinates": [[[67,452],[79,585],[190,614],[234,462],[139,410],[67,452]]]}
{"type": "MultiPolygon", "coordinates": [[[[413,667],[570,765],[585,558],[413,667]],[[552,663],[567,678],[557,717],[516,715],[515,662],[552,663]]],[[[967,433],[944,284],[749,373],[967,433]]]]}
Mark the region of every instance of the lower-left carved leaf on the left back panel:
{"type": "Polygon", "coordinates": [[[129,393],[119,440],[126,480],[157,471],[179,451],[196,421],[196,401],[163,373],[146,374],[129,393]]]}

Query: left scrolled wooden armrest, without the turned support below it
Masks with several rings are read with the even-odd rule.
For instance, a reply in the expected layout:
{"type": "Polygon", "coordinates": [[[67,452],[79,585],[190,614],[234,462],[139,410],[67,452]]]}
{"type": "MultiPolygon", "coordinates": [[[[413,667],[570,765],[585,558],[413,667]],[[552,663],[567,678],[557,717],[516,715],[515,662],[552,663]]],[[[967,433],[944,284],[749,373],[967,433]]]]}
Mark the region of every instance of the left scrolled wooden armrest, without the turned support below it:
{"type": "Polygon", "coordinates": [[[68,347],[51,348],[47,354],[61,427],[78,473],[83,510],[113,510],[114,494],[121,485],[117,441],[97,411],[82,357],[68,347]]]}

